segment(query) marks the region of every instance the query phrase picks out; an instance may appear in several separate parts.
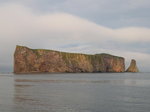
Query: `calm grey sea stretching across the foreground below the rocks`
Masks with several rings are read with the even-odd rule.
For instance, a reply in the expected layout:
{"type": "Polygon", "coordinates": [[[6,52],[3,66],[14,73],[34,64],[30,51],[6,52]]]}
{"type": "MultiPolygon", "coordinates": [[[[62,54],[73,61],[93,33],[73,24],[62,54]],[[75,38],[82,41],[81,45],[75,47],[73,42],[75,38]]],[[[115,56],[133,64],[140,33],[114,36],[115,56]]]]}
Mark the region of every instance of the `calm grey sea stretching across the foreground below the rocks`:
{"type": "Polygon", "coordinates": [[[150,112],[150,73],[0,74],[0,112],[150,112]]]}

